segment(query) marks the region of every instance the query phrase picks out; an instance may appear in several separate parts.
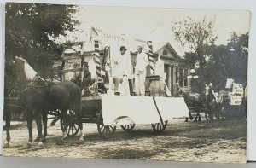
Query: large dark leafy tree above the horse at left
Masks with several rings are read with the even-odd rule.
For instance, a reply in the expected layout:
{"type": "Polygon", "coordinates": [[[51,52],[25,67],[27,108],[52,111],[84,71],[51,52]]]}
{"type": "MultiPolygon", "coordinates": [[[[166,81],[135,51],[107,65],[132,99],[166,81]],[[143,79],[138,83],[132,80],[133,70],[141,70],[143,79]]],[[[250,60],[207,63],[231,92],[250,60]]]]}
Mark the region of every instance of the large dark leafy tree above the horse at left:
{"type": "Polygon", "coordinates": [[[21,55],[40,75],[50,76],[52,58],[61,54],[54,39],[75,30],[77,10],[74,5],[6,3],[6,61],[21,55]]]}

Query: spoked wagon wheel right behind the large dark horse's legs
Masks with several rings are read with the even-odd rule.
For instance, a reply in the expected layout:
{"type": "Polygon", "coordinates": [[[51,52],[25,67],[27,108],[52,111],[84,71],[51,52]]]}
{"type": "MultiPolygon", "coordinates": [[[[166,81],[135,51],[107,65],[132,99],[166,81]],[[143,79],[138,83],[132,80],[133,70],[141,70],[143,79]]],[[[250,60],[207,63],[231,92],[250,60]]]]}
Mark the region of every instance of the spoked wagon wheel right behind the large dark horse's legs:
{"type": "MultiPolygon", "coordinates": [[[[68,110],[67,113],[68,118],[73,118],[75,116],[75,112],[72,110],[68,110]]],[[[64,121],[61,118],[61,130],[64,131],[64,121]]],[[[71,121],[69,120],[69,123],[67,125],[67,136],[68,137],[73,137],[76,136],[79,133],[79,124],[76,119],[72,119],[71,121]]]]}

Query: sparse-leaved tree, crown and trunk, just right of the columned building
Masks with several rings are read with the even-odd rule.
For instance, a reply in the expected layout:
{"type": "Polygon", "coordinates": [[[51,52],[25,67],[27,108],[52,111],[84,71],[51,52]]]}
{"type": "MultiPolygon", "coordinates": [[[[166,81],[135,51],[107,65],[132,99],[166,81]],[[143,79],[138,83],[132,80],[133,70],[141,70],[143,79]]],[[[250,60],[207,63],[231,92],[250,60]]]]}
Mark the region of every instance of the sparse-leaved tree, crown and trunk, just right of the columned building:
{"type": "Polygon", "coordinates": [[[199,79],[192,81],[192,90],[201,92],[203,84],[206,82],[203,69],[207,65],[207,60],[211,56],[214,42],[217,36],[213,32],[213,20],[196,21],[188,17],[186,20],[175,22],[172,26],[175,39],[181,43],[184,49],[189,49],[185,53],[185,59],[194,68],[195,63],[198,63],[197,70],[199,79]],[[196,84],[195,84],[196,83],[196,84]],[[197,88],[193,88],[198,86],[197,88]]]}

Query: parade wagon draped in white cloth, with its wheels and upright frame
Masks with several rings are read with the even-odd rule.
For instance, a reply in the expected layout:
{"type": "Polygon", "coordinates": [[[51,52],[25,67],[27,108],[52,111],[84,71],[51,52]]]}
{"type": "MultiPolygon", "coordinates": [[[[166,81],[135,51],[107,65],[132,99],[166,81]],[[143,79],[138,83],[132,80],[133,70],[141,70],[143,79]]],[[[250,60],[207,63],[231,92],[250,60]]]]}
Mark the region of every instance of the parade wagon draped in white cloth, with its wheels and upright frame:
{"type": "MultiPolygon", "coordinates": [[[[83,45],[83,43],[76,43],[83,45]]],[[[74,43],[72,43],[74,45],[74,43]]],[[[83,48],[83,46],[81,46],[83,48]]],[[[102,62],[102,70],[105,70],[105,65],[110,56],[110,47],[105,47],[102,51],[98,51],[102,62]]],[[[75,53],[67,55],[63,52],[61,56],[61,79],[80,78],[84,72],[84,62],[89,61],[92,52],[84,52],[84,54],[75,53]],[[68,66],[66,65],[68,64],[68,66]],[[79,65],[79,66],[78,66],[79,65]],[[80,75],[80,77],[79,77],[80,75]]],[[[104,73],[104,80],[109,81],[109,72],[104,73]],[[107,76],[107,78],[106,78],[107,76]]],[[[150,77],[152,78],[152,77],[150,77]]],[[[158,78],[158,77],[155,77],[158,78]]],[[[112,94],[93,93],[86,95],[84,90],[88,88],[81,86],[82,90],[82,122],[94,123],[97,125],[97,130],[103,138],[113,136],[117,126],[123,130],[130,131],[135,125],[150,124],[153,130],[161,132],[166,129],[168,120],[178,117],[186,117],[189,113],[188,107],[183,101],[183,97],[165,97],[163,94],[155,94],[155,78],[152,81],[154,84],[148,84],[148,96],[115,96],[112,94]],[[156,95],[156,96],[155,96],[156,95]]],[[[76,80],[78,84],[83,82],[76,80]]],[[[111,87],[111,86],[108,86],[111,87]]],[[[97,88],[98,89],[98,88],[97,88]]],[[[60,112],[49,112],[54,116],[59,117],[60,112]]],[[[79,125],[75,119],[75,112],[69,111],[68,115],[73,118],[67,128],[67,136],[75,136],[79,133],[79,125]]],[[[54,117],[55,118],[55,117],[54,117]]],[[[61,119],[61,129],[63,130],[63,121],[61,119]]]]}

